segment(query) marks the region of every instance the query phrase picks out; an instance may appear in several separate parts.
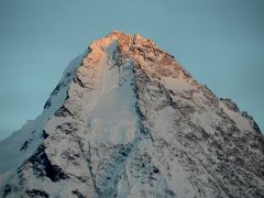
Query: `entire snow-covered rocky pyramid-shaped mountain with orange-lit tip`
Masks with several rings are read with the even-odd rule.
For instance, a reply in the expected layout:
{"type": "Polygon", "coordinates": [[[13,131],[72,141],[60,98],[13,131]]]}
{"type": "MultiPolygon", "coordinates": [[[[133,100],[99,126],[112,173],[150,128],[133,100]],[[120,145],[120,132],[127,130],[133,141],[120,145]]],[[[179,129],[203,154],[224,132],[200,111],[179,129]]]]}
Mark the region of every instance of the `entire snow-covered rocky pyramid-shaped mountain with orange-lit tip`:
{"type": "Polygon", "coordinates": [[[0,142],[0,195],[264,197],[264,139],[152,40],[112,32],[0,142]]]}

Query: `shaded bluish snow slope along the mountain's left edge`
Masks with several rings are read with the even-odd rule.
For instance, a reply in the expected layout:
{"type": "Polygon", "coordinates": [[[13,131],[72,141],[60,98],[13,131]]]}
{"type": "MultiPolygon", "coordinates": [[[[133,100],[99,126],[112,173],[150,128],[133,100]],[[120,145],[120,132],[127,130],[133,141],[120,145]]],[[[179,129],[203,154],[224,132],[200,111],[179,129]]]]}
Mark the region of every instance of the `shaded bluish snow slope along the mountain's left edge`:
{"type": "Polygon", "coordinates": [[[54,112],[63,106],[73,75],[86,55],[87,53],[78,56],[67,66],[62,80],[46,101],[43,113],[35,120],[29,120],[20,131],[0,142],[0,174],[7,174],[18,168],[23,161],[35,152],[45,138],[44,125],[54,112]]]}

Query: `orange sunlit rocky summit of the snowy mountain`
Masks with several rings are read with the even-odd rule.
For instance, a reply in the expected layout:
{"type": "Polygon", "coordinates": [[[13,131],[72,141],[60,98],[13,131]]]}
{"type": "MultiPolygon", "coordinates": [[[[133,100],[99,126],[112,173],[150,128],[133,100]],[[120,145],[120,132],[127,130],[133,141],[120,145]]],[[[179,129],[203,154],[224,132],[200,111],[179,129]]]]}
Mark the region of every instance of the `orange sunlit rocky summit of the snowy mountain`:
{"type": "Polygon", "coordinates": [[[91,51],[89,58],[94,58],[95,62],[99,62],[98,58],[102,57],[103,53],[111,52],[116,55],[120,54],[119,58],[133,59],[142,69],[160,79],[162,76],[177,77],[179,73],[185,78],[191,78],[173,55],[161,50],[153,40],[145,38],[140,34],[130,35],[113,31],[106,37],[92,42],[89,48],[91,51]],[[111,44],[116,46],[116,50],[107,52],[111,44]],[[101,55],[99,56],[99,54],[101,55]]]}

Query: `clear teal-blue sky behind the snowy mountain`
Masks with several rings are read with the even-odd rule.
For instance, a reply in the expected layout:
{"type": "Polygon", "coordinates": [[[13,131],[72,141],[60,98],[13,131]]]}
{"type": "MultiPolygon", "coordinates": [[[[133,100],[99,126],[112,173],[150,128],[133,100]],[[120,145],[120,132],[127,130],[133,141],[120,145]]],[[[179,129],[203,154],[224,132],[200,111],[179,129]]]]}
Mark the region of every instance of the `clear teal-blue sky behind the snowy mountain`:
{"type": "Polygon", "coordinates": [[[35,119],[67,64],[112,30],[153,38],[264,130],[263,0],[0,0],[0,140],[35,119]]]}

